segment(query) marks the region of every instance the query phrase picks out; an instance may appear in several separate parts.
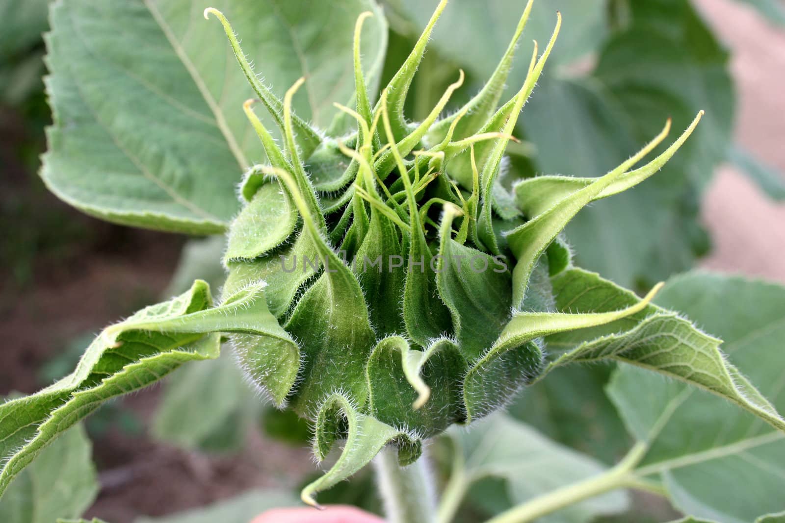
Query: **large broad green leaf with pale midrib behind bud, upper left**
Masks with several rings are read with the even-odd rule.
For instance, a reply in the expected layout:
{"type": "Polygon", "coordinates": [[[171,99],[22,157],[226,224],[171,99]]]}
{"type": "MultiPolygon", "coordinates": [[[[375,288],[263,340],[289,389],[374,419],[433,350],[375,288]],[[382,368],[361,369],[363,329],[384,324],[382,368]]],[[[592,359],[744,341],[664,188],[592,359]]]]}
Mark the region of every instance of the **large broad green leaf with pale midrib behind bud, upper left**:
{"type": "MultiPolygon", "coordinates": [[[[266,82],[283,91],[309,78],[306,96],[294,105],[318,125],[330,123],[332,102],[352,97],[352,27],[365,10],[376,13],[363,34],[366,67],[381,67],[385,21],[370,0],[340,8],[213,3],[244,35],[245,52],[266,82]]],[[[203,19],[206,6],[195,0],[53,6],[47,86],[55,125],[42,176],[60,198],[118,223],[225,230],[238,209],[234,187],[243,169],[265,157],[242,109],[254,89],[220,24],[203,19]]]]}

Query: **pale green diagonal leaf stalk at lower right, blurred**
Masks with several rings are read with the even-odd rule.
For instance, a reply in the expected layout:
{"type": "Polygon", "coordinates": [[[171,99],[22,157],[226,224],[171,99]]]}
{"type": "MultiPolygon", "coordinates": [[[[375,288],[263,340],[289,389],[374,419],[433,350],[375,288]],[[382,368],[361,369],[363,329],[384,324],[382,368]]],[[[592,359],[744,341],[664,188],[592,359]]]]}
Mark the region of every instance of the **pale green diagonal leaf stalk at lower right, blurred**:
{"type": "Polygon", "coordinates": [[[527,503],[498,514],[498,516],[489,519],[486,523],[528,523],[528,521],[535,521],[538,518],[542,518],[542,516],[570,507],[584,499],[600,496],[617,488],[636,485],[637,477],[633,470],[637,463],[641,461],[647,449],[646,445],[639,443],[630,450],[618,465],[608,470],[608,472],[579,481],[573,485],[558,488],[545,496],[531,499],[527,503]]]}

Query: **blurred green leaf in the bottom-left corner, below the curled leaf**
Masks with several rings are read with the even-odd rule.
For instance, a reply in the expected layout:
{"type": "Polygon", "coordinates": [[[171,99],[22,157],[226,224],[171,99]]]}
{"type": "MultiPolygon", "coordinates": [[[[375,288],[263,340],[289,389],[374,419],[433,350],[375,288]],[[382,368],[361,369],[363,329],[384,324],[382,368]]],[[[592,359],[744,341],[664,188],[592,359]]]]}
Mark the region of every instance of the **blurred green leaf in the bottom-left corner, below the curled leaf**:
{"type": "Polygon", "coordinates": [[[52,523],[77,518],[96,498],[98,481],[92,445],[79,425],[41,452],[5,491],[0,501],[3,523],[52,523]]]}

